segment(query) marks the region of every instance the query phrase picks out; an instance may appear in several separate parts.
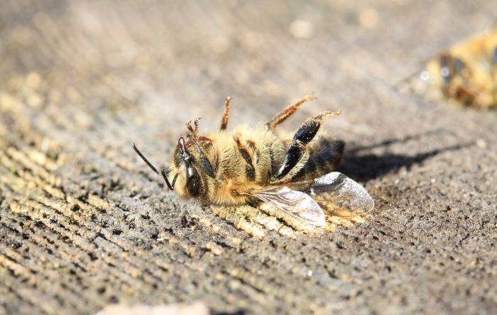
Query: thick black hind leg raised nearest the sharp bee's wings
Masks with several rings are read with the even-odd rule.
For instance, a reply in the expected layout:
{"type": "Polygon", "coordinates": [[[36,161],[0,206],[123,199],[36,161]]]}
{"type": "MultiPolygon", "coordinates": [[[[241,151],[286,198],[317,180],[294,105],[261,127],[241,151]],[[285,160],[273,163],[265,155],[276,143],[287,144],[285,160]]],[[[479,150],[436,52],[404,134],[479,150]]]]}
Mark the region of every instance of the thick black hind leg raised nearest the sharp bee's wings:
{"type": "Polygon", "coordinates": [[[271,177],[269,182],[271,184],[276,184],[293,178],[293,176],[305,166],[309,159],[312,140],[315,139],[317,133],[321,129],[321,121],[327,116],[339,116],[339,114],[339,111],[325,111],[322,114],[307,119],[307,121],[298,128],[295,136],[293,136],[292,143],[288,145],[285,153],[285,160],[283,160],[280,170],[278,170],[276,175],[271,177]]]}

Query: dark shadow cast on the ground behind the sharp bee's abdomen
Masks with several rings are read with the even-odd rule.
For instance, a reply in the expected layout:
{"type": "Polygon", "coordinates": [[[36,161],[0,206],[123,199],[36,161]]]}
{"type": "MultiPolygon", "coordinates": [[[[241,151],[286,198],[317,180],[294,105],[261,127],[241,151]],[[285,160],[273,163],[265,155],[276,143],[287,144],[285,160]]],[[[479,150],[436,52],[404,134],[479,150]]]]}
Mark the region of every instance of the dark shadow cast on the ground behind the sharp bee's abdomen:
{"type": "Polygon", "coordinates": [[[427,136],[427,134],[430,133],[437,133],[437,131],[430,131],[427,133],[422,133],[420,135],[408,136],[400,139],[389,139],[382,141],[381,143],[376,143],[374,145],[346,150],[343,162],[341,165],[339,165],[338,171],[343,172],[347,176],[361,182],[368,182],[371,179],[376,179],[377,177],[385,175],[389,172],[396,172],[402,167],[406,167],[407,169],[409,169],[413,165],[420,164],[426,159],[434,157],[439,153],[459,150],[461,148],[467,148],[473,145],[471,143],[466,143],[463,145],[452,145],[445,148],[431,150],[425,153],[419,153],[416,155],[402,155],[395,153],[386,153],[383,155],[376,155],[373,153],[361,154],[362,151],[370,150],[372,148],[386,147],[393,143],[405,143],[409,140],[419,140],[423,136],[427,136]]]}

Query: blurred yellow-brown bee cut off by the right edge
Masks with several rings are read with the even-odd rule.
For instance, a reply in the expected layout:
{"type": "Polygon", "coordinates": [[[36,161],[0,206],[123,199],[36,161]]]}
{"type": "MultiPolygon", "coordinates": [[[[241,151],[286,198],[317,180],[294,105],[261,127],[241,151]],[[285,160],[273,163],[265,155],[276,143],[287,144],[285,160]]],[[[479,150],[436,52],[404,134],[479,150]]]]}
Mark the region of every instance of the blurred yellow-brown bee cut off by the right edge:
{"type": "Polygon", "coordinates": [[[497,106],[497,28],[454,45],[427,64],[421,79],[452,103],[488,109],[497,106]]]}

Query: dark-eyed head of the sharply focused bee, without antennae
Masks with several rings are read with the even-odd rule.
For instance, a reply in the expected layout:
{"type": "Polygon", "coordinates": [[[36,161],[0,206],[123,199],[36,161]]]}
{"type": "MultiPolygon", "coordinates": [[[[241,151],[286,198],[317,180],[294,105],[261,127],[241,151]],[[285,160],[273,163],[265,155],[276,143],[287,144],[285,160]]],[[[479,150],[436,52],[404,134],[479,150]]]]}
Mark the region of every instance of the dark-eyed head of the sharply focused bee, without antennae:
{"type": "Polygon", "coordinates": [[[183,137],[178,140],[173,163],[178,172],[178,194],[194,198],[201,197],[204,194],[204,188],[197,170],[197,159],[188,151],[183,137]]]}

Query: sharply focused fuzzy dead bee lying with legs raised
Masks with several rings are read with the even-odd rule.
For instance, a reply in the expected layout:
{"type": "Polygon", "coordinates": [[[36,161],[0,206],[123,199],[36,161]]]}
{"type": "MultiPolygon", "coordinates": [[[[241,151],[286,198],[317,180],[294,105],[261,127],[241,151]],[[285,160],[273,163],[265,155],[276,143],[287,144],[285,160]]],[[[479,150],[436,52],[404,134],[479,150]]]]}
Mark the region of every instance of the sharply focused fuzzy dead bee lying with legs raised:
{"type": "Polygon", "coordinates": [[[259,128],[227,131],[228,97],[219,131],[201,136],[199,119],[187,123],[187,135],[179,138],[170,167],[160,172],[134,143],[133,149],[163,177],[168,189],[202,204],[266,203],[314,226],[324,225],[324,211],[336,216],[371,211],[374,202],[368,192],[349,177],[332,172],[342,159],[344,142],[322,136],[322,123],[339,116],[339,111],[308,118],[291,139],[276,135],[276,126],[312,99],[314,95],[305,96],[259,128]]]}

